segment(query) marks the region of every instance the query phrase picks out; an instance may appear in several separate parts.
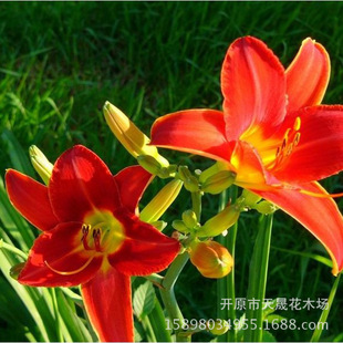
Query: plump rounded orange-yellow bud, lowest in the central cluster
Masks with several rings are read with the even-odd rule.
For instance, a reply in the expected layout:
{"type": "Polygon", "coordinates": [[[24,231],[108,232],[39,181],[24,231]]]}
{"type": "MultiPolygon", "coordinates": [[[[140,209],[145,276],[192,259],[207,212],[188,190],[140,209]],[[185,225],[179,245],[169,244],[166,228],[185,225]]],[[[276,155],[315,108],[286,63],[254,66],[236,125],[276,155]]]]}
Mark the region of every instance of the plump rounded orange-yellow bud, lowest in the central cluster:
{"type": "Polygon", "coordinates": [[[233,266],[233,259],[228,249],[212,240],[193,242],[189,257],[191,263],[206,278],[222,278],[233,266]]]}

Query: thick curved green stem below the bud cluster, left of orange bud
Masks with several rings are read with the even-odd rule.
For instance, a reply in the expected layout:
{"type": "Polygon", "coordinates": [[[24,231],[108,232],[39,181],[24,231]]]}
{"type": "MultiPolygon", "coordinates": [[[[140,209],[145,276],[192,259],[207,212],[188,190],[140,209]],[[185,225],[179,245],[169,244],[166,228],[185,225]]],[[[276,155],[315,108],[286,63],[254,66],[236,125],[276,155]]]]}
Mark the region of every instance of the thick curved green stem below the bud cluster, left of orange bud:
{"type": "Polygon", "coordinates": [[[177,326],[177,324],[179,325],[179,328],[175,330],[177,342],[190,341],[189,336],[185,337],[180,335],[180,333],[183,332],[181,325],[184,322],[184,315],[178,306],[174,292],[175,282],[178,279],[178,276],[180,274],[185,264],[187,263],[188,258],[189,258],[188,252],[185,251],[174,260],[174,262],[168,268],[168,271],[162,282],[162,288],[159,289],[162,300],[170,319],[170,326],[175,328],[177,326]]]}

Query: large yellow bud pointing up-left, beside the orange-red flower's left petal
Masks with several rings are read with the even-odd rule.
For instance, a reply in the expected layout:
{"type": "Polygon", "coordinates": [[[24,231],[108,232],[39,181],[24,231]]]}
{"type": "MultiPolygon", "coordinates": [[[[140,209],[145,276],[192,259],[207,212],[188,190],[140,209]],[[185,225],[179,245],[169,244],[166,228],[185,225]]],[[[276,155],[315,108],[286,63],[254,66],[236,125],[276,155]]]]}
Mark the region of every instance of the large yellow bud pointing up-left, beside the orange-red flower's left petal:
{"type": "Polygon", "coordinates": [[[149,155],[162,166],[169,165],[168,160],[158,154],[155,146],[148,145],[150,139],[119,108],[106,102],[103,111],[111,131],[131,155],[135,158],[139,155],[149,155]]]}

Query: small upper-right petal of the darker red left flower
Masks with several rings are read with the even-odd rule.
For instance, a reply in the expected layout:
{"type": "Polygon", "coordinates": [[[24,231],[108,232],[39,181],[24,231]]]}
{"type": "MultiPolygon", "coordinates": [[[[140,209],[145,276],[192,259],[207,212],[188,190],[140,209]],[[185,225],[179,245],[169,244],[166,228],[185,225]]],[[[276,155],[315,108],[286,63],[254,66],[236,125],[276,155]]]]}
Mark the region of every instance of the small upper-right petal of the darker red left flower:
{"type": "Polygon", "coordinates": [[[135,214],[142,195],[154,176],[141,166],[131,166],[114,176],[123,207],[135,214]]]}

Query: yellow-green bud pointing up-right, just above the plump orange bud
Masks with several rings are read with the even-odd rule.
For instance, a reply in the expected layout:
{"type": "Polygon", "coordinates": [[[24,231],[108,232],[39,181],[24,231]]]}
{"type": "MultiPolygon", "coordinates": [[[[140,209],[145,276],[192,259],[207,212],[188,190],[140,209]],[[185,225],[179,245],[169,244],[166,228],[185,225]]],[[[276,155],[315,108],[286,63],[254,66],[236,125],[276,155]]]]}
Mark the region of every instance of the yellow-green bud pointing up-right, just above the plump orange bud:
{"type": "Polygon", "coordinates": [[[215,237],[229,229],[239,218],[240,207],[229,205],[215,217],[207,220],[197,231],[198,237],[215,237]]]}

